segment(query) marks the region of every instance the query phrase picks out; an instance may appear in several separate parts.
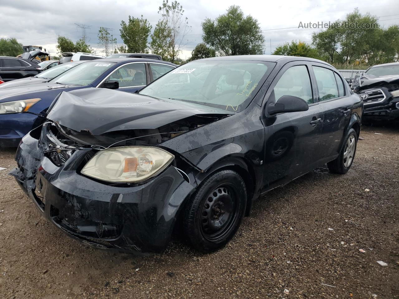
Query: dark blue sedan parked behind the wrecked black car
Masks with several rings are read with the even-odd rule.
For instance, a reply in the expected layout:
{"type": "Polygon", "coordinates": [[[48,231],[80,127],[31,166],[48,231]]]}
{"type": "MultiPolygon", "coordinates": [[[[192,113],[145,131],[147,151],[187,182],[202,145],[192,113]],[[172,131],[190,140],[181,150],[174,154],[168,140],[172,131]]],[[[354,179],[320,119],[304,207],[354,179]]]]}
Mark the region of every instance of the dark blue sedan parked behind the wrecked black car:
{"type": "Polygon", "coordinates": [[[136,92],[175,67],[153,59],[103,58],[81,63],[48,82],[2,89],[0,147],[18,146],[45,120],[47,108],[62,91],[102,87],[136,92]]]}

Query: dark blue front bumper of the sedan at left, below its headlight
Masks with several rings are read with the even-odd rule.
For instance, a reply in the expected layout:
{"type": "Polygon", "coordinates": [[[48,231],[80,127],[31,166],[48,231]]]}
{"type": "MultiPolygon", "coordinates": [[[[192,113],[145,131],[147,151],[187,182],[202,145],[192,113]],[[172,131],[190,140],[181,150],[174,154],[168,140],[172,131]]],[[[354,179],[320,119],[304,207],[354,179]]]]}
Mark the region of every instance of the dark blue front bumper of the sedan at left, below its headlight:
{"type": "Polygon", "coordinates": [[[0,114],[0,147],[17,147],[22,137],[42,120],[42,116],[29,112],[0,114]]]}

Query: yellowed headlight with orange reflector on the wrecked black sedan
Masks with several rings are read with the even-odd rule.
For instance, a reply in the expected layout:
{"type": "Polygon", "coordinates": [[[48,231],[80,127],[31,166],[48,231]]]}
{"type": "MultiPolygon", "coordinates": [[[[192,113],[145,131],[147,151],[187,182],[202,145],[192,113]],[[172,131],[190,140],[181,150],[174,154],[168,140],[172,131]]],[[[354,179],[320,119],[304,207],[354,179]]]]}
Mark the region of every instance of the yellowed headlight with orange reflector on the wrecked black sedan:
{"type": "Polygon", "coordinates": [[[174,155],[152,146],[122,146],[97,152],[81,173],[108,182],[137,183],[164,170],[174,155]]]}

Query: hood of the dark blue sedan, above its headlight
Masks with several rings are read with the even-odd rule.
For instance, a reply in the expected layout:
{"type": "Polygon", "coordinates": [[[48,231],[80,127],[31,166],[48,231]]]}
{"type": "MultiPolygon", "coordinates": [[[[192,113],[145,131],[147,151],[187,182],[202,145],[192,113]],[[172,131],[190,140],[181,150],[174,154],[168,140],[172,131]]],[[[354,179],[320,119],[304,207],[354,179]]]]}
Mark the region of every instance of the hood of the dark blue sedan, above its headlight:
{"type": "MultiPolygon", "coordinates": [[[[6,83],[3,83],[6,84],[6,83]]],[[[2,84],[2,85],[3,85],[2,84]]],[[[4,88],[0,89],[0,103],[3,102],[10,102],[13,100],[16,100],[16,97],[21,95],[26,95],[24,98],[30,98],[30,94],[36,93],[36,92],[41,92],[45,90],[55,90],[55,89],[61,89],[59,92],[62,91],[62,89],[70,87],[68,85],[63,85],[63,84],[58,84],[58,83],[38,83],[38,84],[32,84],[32,85],[26,85],[26,86],[16,86],[16,87],[10,87],[10,88],[4,88]]],[[[20,98],[18,98],[19,100],[20,98]]]]}

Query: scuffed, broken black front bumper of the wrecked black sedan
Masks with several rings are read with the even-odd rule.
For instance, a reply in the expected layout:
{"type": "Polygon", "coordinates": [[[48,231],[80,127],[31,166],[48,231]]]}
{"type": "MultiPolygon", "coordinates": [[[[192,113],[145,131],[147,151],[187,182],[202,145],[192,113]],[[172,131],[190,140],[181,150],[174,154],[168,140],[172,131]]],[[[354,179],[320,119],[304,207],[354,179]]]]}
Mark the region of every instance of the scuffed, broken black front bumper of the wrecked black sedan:
{"type": "Polygon", "coordinates": [[[194,186],[173,165],[142,185],[105,185],[76,170],[87,151],[76,150],[57,167],[28,134],[17,150],[18,168],[10,174],[41,214],[71,238],[99,249],[163,252],[194,186]]]}

